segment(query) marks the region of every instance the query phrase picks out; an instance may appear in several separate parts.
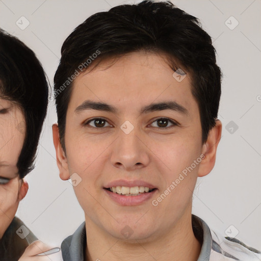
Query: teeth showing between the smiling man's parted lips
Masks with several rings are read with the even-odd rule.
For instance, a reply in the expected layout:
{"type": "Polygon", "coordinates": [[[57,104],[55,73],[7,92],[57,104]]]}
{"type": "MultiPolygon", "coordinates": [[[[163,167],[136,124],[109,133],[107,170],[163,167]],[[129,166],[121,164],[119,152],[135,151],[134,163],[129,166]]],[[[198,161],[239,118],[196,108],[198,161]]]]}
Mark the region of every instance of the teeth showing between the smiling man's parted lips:
{"type": "Polygon", "coordinates": [[[136,187],[131,187],[131,188],[117,186],[117,187],[105,188],[105,189],[112,193],[119,194],[122,196],[139,196],[142,194],[150,193],[155,190],[155,189],[150,189],[148,187],[143,187],[143,186],[139,186],[139,187],[136,186],[136,187]]]}

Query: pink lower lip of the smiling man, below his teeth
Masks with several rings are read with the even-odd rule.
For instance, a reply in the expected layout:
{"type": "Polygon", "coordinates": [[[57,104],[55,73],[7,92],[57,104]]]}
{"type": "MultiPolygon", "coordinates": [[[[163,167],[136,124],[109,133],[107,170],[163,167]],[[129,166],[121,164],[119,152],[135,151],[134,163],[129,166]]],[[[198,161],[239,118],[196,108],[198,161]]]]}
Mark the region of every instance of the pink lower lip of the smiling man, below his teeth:
{"type": "Polygon", "coordinates": [[[157,189],[154,189],[151,192],[147,192],[138,196],[124,196],[119,195],[117,193],[111,192],[107,189],[103,189],[107,193],[107,195],[117,202],[118,204],[122,206],[133,206],[133,205],[139,205],[144,203],[145,201],[149,200],[156,192],[157,189]]]}

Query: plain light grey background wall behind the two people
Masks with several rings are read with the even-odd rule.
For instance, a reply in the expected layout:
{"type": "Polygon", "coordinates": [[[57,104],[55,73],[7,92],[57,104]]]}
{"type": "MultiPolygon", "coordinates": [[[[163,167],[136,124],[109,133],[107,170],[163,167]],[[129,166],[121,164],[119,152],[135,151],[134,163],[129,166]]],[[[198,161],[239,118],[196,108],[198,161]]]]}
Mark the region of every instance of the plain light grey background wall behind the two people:
{"type": "MultiPolygon", "coordinates": [[[[91,14],[122,3],[134,2],[0,0],[0,27],[35,51],[53,86],[65,38],[91,14]],[[16,25],[21,16],[30,22],[24,30],[16,25]]],[[[213,38],[218,65],[224,74],[219,110],[223,133],[216,166],[209,175],[198,179],[193,213],[224,236],[225,230],[233,225],[233,231],[239,230],[238,239],[261,249],[261,1],[173,0],[172,3],[201,20],[213,38]],[[225,24],[230,16],[239,22],[233,30],[225,24]],[[231,120],[239,126],[232,134],[225,128],[231,120]]],[[[236,24],[231,19],[227,22],[230,27],[236,24]]],[[[60,245],[84,221],[84,214],[70,183],[59,178],[51,132],[56,121],[52,102],[36,168],[27,176],[29,192],[21,201],[17,216],[39,239],[60,245]]]]}

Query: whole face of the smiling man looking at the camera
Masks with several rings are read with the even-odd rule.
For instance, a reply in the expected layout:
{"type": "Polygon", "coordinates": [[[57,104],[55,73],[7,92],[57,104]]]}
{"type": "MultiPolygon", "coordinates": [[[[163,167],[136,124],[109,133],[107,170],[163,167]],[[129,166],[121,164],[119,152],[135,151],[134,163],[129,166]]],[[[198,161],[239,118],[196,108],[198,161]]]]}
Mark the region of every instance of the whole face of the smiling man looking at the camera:
{"type": "Polygon", "coordinates": [[[74,80],[60,176],[72,175],[87,226],[116,238],[127,232],[130,239],[152,239],[181,217],[191,218],[200,166],[195,161],[204,152],[198,105],[189,75],[177,81],[160,56],[132,53],[108,65],[111,61],[74,80]],[[114,110],[105,105],[95,110],[96,102],[114,110]],[[116,186],[118,192],[122,186],[154,190],[125,196],[108,190],[116,186]]]}

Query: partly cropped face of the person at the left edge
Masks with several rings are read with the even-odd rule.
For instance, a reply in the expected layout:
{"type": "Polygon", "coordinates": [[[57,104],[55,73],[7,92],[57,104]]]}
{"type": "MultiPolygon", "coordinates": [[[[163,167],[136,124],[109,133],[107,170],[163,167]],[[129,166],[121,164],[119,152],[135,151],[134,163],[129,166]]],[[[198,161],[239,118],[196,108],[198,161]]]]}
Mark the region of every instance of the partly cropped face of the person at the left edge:
{"type": "Polygon", "coordinates": [[[22,180],[16,166],[24,128],[22,111],[14,103],[0,98],[0,239],[14,218],[21,191],[25,192],[19,191],[22,180]]]}

